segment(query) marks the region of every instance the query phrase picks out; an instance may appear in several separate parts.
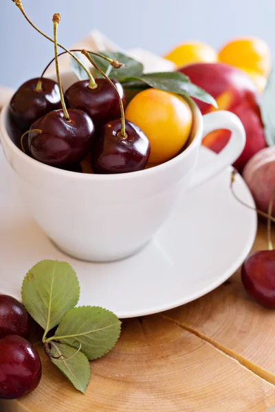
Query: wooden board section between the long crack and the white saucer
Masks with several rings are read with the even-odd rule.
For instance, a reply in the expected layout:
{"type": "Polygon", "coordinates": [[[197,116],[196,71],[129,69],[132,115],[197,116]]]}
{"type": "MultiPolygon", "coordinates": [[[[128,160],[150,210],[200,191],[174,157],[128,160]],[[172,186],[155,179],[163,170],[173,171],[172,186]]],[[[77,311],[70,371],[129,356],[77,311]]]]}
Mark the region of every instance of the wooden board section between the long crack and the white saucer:
{"type": "MultiPolygon", "coordinates": [[[[254,250],[267,249],[266,225],[260,222],[254,250]]],[[[245,293],[240,271],[202,299],[164,314],[181,325],[208,336],[236,357],[247,361],[256,373],[266,371],[275,384],[275,311],[256,304],[245,293]],[[252,365],[254,363],[254,365],[252,365]]]]}

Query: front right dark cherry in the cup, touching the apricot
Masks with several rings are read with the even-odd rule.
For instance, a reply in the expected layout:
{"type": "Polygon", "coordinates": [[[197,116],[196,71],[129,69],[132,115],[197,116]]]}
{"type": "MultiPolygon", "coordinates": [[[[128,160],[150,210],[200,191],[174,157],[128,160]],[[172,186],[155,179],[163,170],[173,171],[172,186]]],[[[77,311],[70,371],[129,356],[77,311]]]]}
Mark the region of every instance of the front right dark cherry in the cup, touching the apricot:
{"type": "Polygon", "coordinates": [[[91,148],[94,173],[126,173],[145,168],[150,155],[150,142],[140,128],[126,120],[126,138],[120,135],[121,119],[101,126],[91,148]]]}

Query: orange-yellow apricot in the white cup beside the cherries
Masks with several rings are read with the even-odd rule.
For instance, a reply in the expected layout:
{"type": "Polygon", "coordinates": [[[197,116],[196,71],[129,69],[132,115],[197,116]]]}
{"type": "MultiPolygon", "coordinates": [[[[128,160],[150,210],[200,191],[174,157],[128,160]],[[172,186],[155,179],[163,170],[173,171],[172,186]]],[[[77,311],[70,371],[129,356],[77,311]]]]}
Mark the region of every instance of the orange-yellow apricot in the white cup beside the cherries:
{"type": "Polygon", "coordinates": [[[149,163],[163,163],[184,147],[192,128],[192,111],[184,98],[157,89],[141,91],[125,117],[139,126],[151,144],[149,163]]]}

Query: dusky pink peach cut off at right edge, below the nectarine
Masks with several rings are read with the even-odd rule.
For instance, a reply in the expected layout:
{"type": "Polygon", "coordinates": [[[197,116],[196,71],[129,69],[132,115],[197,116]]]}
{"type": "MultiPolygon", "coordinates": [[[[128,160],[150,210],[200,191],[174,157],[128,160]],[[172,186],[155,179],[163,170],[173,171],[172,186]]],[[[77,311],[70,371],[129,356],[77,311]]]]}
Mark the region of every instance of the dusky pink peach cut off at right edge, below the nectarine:
{"type": "MultiPolygon", "coordinates": [[[[256,153],[243,169],[243,179],[254,197],[256,207],[267,213],[270,196],[275,187],[275,147],[256,153]]],[[[275,201],[272,210],[275,216],[275,201]]]]}

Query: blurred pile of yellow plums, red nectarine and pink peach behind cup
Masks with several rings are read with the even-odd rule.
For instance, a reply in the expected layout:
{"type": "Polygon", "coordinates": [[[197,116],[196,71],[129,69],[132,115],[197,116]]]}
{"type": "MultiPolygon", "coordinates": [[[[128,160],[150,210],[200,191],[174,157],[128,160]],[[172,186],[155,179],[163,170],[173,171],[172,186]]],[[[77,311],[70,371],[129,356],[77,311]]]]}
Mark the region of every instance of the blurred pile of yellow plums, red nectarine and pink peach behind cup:
{"type": "MultiPolygon", "coordinates": [[[[191,42],[175,47],[165,58],[208,91],[219,110],[232,111],[243,122],[247,141],[234,166],[243,174],[257,207],[267,213],[275,185],[274,79],[269,47],[256,37],[236,38],[219,52],[191,42]]],[[[217,110],[203,102],[197,104],[203,114],[217,110]]],[[[229,139],[228,130],[215,130],[204,137],[203,145],[218,153],[229,139]]]]}

